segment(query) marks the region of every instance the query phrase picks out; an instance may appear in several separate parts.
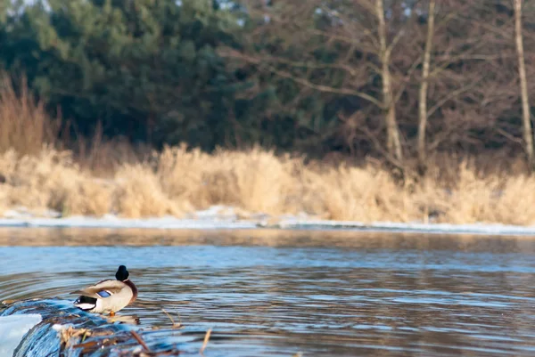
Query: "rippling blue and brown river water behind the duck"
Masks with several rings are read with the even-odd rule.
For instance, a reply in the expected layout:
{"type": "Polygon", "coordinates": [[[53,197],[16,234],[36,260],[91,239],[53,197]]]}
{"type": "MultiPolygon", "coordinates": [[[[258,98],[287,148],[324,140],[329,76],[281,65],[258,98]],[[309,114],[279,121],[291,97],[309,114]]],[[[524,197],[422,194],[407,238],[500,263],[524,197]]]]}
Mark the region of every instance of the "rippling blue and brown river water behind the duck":
{"type": "Polygon", "coordinates": [[[0,231],[0,300],[74,299],[126,264],[141,327],[208,356],[528,356],[535,240],[327,231],[0,231]],[[39,247],[37,247],[39,246],[39,247]]]}

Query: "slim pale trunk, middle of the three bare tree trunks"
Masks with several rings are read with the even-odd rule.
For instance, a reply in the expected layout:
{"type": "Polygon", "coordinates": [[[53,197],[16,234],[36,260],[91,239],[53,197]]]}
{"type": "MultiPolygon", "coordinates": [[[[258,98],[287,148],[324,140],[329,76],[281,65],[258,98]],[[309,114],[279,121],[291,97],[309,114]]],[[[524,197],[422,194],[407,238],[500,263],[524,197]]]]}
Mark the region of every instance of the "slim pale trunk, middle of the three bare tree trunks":
{"type": "Polygon", "coordinates": [[[431,61],[432,37],[434,33],[435,0],[429,2],[429,22],[427,24],[427,38],[425,40],[422,82],[420,84],[420,98],[418,102],[418,164],[425,172],[425,129],[427,127],[427,87],[429,86],[429,66],[431,61]]]}

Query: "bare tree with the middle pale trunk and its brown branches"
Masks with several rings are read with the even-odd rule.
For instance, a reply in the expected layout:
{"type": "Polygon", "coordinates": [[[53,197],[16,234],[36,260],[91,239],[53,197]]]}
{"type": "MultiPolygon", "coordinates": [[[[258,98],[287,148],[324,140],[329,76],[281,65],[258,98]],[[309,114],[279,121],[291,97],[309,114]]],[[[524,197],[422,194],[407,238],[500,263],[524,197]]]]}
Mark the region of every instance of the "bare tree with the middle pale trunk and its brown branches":
{"type": "Polygon", "coordinates": [[[419,8],[425,25],[418,25],[414,34],[420,38],[416,51],[422,71],[415,78],[417,93],[407,93],[407,98],[418,98],[417,113],[403,113],[400,124],[407,127],[407,118],[418,117],[416,154],[422,174],[429,152],[479,147],[489,139],[481,133],[493,131],[495,120],[511,107],[510,96],[503,95],[511,86],[504,69],[499,69],[507,58],[514,58],[508,50],[511,41],[497,40],[510,23],[498,19],[492,6],[430,0],[419,8]],[[491,89],[500,97],[493,96],[491,89]]]}

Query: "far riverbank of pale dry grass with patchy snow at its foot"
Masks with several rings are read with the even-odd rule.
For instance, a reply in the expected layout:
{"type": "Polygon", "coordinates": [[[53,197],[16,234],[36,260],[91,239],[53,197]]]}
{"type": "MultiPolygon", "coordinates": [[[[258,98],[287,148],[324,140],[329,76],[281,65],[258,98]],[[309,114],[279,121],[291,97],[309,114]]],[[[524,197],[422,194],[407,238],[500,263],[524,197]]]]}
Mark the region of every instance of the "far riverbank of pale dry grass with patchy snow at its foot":
{"type": "Polygon", "coordinates": [[[306,161],[258,148],[213,154],[166,148],[108,174],[80,165],[69,150],[45,146],[36,155],[0,154],[0,216],[15,220],[3,222],[22,217],[60,223],[85,216],[95,218],[83,222],[173,217],[185,223],[202,215],[231,216],[253,226],[287,219],[329,222],[320,226],[348,221],[531,226],[535,178],[498,170],[483,174],[461,162],[400,184],[381,166],[306,161]]]}

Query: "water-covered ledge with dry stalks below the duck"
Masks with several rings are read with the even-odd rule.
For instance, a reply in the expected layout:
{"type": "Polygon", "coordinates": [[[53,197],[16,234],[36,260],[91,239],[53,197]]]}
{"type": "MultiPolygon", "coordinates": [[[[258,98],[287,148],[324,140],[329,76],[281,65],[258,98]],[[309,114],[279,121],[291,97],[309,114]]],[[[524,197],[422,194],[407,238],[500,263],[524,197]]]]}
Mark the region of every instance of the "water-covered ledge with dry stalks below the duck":
{"type": "Polygon", "coordinates": [[[64,300],[24,300],[0,307],[0,316],[19,314],[38,314],[41,321],[22,337],[13,357],[198,355],[203,340],[201,331],[139,329],[134,317],[83,312],[64,300]]]}

